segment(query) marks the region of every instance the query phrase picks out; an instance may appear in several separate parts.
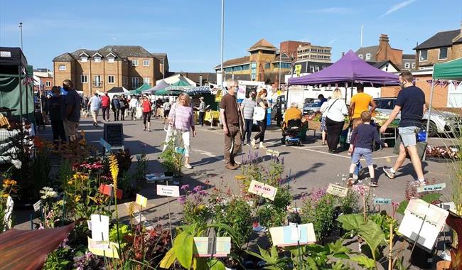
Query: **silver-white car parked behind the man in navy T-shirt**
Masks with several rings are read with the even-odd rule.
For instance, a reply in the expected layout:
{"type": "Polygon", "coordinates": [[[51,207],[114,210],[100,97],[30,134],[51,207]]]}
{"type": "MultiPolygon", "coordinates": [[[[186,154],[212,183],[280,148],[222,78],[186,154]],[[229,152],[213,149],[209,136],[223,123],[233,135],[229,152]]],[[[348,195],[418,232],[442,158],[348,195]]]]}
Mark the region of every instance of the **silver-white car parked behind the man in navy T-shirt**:
{"type": "MultiPolygon", "coordinates": [[[[377,112],[384,114],[391,114],[394,105],[396,104],[396,97],[380,97],[375,98],[375,104],[377,104],[377,112]]],[[[401,114],[398,114],[397,119],[401,118],[401,114]]],[[[429,119],[429,111],[427,110],[422,117],[422,127],[426,128],[426,123],[429,119]]],[[[430,126],[429,126],[429,136],[435,136],[439,133],[453,132],[459,128],[461,125],[461,118],[458,114],[453,114],[451,112],[440,112],[434,109],[431,110],[430,117],[430,126]]]]}

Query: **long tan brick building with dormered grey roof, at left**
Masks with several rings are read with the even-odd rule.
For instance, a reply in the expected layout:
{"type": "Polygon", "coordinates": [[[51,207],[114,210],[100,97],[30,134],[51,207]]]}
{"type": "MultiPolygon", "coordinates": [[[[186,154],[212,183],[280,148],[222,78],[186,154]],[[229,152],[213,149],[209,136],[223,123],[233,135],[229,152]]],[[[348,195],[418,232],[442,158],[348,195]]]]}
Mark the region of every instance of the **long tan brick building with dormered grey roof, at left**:
{"type": "MultiPolygon", "coordinates": [[[[53,59],[53,85],[70,79],[77,90],[90,96],[112,87],[134,90],[143,83],[156,85],[161,79],[160,54],[155,56],[141,46],[109,45],[99,50],[79,49],[53,59]]],[[[168,60],[163,67],[168,72],[168,60]]]]}

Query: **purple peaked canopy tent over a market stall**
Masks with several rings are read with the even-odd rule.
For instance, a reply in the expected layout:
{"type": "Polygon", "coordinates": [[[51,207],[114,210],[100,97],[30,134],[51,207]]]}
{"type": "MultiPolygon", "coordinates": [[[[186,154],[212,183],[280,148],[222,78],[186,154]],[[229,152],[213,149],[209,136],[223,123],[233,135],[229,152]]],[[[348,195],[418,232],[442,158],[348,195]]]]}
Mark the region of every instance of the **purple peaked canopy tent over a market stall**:
{"type": "MultiPolygon", "coordinates": [[[[374,85],[399,85],[399,80],[398,75],[379,70],[365,63],[353,50],[348,50],[348,53],[328,68],[310,75],[289,79],[289,85],[323,85],[333,83],[338,83],[339,85],[348,84],[351,87],[355,83],[362,83],[373,87],[374,85]]],[[[353,95],[353,88],[351,94],[353,95]]],[[[345,95],[347,95],[346,92],[345,95]]]]}

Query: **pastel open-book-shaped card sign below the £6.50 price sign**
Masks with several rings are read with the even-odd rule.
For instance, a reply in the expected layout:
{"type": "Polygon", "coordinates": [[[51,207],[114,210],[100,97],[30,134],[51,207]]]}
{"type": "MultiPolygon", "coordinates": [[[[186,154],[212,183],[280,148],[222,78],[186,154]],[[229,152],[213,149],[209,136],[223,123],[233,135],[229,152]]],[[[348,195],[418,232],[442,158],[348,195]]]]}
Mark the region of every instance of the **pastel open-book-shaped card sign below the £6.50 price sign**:
{"type": "Polygon", "coordinates": [[[313,223],[269,228],[274,246],[289,247],[316,242],[313,223]]]}

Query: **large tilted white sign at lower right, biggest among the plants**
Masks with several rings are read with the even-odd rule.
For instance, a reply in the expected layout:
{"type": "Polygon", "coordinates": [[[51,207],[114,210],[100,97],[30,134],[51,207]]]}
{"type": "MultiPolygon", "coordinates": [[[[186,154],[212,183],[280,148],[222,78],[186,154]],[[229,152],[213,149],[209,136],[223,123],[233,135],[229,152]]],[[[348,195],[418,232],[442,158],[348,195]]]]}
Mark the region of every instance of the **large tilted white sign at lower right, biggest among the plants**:
{"type": "Polygon", "coordinates": [[[444,228],[448,215],[448,211],[436,205],[430,205],[424,200],[412,199],[404,210],[404,217],[398,232],[411,241],[417,240],[420,247],[431,251],[439,232],[444,228]]]}

